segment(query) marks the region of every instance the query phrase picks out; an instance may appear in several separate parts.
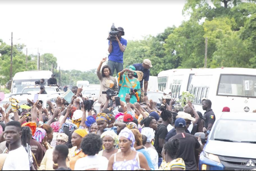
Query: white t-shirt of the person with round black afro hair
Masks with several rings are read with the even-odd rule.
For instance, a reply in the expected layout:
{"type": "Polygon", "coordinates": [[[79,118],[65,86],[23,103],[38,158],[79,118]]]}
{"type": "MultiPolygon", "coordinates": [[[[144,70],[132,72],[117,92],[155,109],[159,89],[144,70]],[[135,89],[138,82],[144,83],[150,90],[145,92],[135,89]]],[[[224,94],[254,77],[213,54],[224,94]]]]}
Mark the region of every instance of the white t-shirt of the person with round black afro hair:
{"type": "Polygon", "coordinates": [[[103,156],[86,156],[78,159],[74,170],[107,170],[108,159],[103,156]]]}

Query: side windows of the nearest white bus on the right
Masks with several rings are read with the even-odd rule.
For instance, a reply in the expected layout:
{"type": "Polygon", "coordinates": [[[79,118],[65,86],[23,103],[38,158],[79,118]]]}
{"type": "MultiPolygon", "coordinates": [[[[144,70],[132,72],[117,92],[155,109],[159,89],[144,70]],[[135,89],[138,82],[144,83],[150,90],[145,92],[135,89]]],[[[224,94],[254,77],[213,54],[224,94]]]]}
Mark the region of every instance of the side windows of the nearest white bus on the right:
{"type": "Polygon", "coordinates": [[[191,85],[189,92],[195,95],[193,103],[201,104],[203,98],[208,98],[209,87],[193,87],[193,85],[191,85]]]}

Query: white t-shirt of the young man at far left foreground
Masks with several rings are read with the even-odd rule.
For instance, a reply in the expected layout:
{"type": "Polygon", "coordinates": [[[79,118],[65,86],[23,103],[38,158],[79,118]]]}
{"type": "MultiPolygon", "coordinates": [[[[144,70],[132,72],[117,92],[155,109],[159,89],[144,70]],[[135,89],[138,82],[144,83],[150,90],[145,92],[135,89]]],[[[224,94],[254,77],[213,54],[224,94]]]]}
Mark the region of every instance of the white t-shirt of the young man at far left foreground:
{"type": "Polygon", "coordinates": [[[29,155],[23,146],[9,151],[2,170],[30,170],[29,155]]]}

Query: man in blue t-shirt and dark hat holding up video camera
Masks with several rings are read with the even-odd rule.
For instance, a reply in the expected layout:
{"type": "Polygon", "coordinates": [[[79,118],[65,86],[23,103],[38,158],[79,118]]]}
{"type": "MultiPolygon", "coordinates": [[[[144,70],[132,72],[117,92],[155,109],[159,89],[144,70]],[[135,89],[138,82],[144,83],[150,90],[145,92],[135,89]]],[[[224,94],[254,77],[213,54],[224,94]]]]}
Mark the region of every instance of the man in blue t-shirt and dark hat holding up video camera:
{"type": "Polygon", "coordinates": [[[111,76],[113,76],[115,69],[116,73],[124,69],[123,56],[127,46],[127,40],[121,37],[125,35],[122,27],[118,27],[117,31],[119,31],[119,33],[117,33],[116,40],[108,41],[108,66],[111,69],[111,76]]]}

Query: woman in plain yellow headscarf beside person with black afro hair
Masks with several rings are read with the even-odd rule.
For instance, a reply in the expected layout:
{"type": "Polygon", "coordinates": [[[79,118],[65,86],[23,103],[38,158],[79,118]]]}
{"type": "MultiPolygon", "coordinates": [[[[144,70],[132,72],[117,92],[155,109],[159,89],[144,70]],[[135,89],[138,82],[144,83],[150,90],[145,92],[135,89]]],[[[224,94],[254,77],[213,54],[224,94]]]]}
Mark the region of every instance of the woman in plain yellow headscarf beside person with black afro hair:
{"type": "Polygon", "coordinates": [[[81,149],[81,142],[83,137],[87,135],[87,132],[85,129],[76,129],[74,133],[72,134],[71,142],[72,142],[72,148],[70,149],[70,152],[68,154],[68,157],[70,158],[70,168],[74,170],[75,163],[78,159],[86,157],[81,149]]]}

